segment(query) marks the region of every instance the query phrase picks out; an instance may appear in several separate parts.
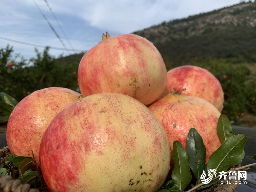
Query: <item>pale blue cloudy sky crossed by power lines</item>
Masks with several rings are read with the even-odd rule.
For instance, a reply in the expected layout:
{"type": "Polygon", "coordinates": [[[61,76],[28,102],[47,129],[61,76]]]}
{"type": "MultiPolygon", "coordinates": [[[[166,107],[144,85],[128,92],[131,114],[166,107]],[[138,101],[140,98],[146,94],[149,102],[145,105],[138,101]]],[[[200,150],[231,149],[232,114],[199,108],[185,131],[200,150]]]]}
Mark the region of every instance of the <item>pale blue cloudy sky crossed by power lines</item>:
{"type": "MultiPolygon", "coordinates": [[[[50,54],[55,57],[89,50],[101,41],[105,31],[108,31],[110,36],[128,34],[164,21],[168,22],[241,2],[241,0],[47,0],[73,48],[77,49],[74,52],[71,51],[45,0],[2,0],[0,2],[0,48],[9,44],[13,46],[15,53],[20,53],[26,59],[35,57],[35,46],[7,41],[1,37],[64,48],[33,1],[38,4],[69,49],[69,52],[50,49],[50,54]]],[[[40,52],[43,49],[38,47],[40,52]]]]}

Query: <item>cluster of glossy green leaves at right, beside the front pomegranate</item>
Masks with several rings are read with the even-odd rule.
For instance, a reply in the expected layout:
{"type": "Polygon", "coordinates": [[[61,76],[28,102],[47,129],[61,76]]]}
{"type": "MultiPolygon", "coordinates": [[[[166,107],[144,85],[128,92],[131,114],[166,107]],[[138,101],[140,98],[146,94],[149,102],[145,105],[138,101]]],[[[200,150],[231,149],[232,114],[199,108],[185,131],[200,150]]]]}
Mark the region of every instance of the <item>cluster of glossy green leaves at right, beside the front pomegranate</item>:
{"type": "MultiPolygon", "coordinates": [[[[221,146],[211,154],[208,164],[205,164],[206,148],[204,142],[195,128],[191,128],[187,135],[186,151],[179,141],[174,141],[172,180],[165,183],[159,191],[183,191],[191,182],[192,174],[197,179],[197,185],[200,183],[200,176],[203,171],[216,169],[218,175],[218,172],[226,171],[229,167],[240,164],[244,158],[243,149],[247,137],[244,134],[235,135],[227,116],[224,114],[219,117],[217,134],[221,146]]],[[[252,158],[255,158],[255,155],[252,158]]],[[[218,179],[212,180],[209,184],[198,189],[209,187],[217,182],[218,179]]]]}

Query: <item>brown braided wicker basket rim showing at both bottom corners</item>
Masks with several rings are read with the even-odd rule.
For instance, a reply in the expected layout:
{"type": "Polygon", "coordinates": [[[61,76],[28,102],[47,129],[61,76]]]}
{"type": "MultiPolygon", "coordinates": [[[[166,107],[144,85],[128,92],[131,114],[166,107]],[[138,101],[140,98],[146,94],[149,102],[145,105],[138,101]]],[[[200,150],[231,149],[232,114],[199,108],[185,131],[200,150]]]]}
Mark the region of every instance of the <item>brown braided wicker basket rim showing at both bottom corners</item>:
{"type": "MultiPolygon", "coordinates": [[[[9,153],[8,147],[4,147],[0,149],[0,168],[4,167],[4,160],[6,154],[9,153]]],[[[227,180],[226,180],[227,181],[227,180]]],[[[215,184],[205,190],[200,190],[200,192],[233,192],[236,187],[239,185],[234,184],[235,181],[239,180],[232,180],[233,184],[229,185],[221,185],[215,184]]],[[[41,192],[47,191],[42,189],[31,189],[29,184],[21,184],[19,179],[12,179],[10,176],[3,176],[0,174],[0,192],[41,192]]],[[[198,191],[198,190],[195,190],[198,191]]]]}

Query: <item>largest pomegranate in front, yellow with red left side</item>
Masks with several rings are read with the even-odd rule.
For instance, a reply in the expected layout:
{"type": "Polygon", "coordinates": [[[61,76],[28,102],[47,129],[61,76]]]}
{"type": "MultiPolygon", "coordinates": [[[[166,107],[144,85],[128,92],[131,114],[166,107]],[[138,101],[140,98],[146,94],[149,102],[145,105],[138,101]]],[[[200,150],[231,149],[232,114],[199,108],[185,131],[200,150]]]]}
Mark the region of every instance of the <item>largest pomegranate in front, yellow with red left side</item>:
{"type": "Polygon", "coordinates": [[[56,115],[42,137],[40,162],[50,191],[153,192],[170,169],[170,148],[145,105],[97,93],[56,115]]]}

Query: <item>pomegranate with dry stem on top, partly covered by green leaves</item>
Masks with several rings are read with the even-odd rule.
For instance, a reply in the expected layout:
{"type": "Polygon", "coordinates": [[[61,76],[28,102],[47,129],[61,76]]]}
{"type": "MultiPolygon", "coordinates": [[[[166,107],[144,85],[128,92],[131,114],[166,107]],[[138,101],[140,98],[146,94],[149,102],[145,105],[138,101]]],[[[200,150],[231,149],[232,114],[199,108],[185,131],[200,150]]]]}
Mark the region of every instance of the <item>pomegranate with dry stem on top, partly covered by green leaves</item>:
{"type": "Polygon", "coordinates": [[[172,92],[150,105],[149,109],[164,126],[171,151],[175,140],[186,147],[186,138],[192,127],[202,136],[206,147],[206,163],[221,145],[217,135],[220,112],[208,101],[172,92]]]}

